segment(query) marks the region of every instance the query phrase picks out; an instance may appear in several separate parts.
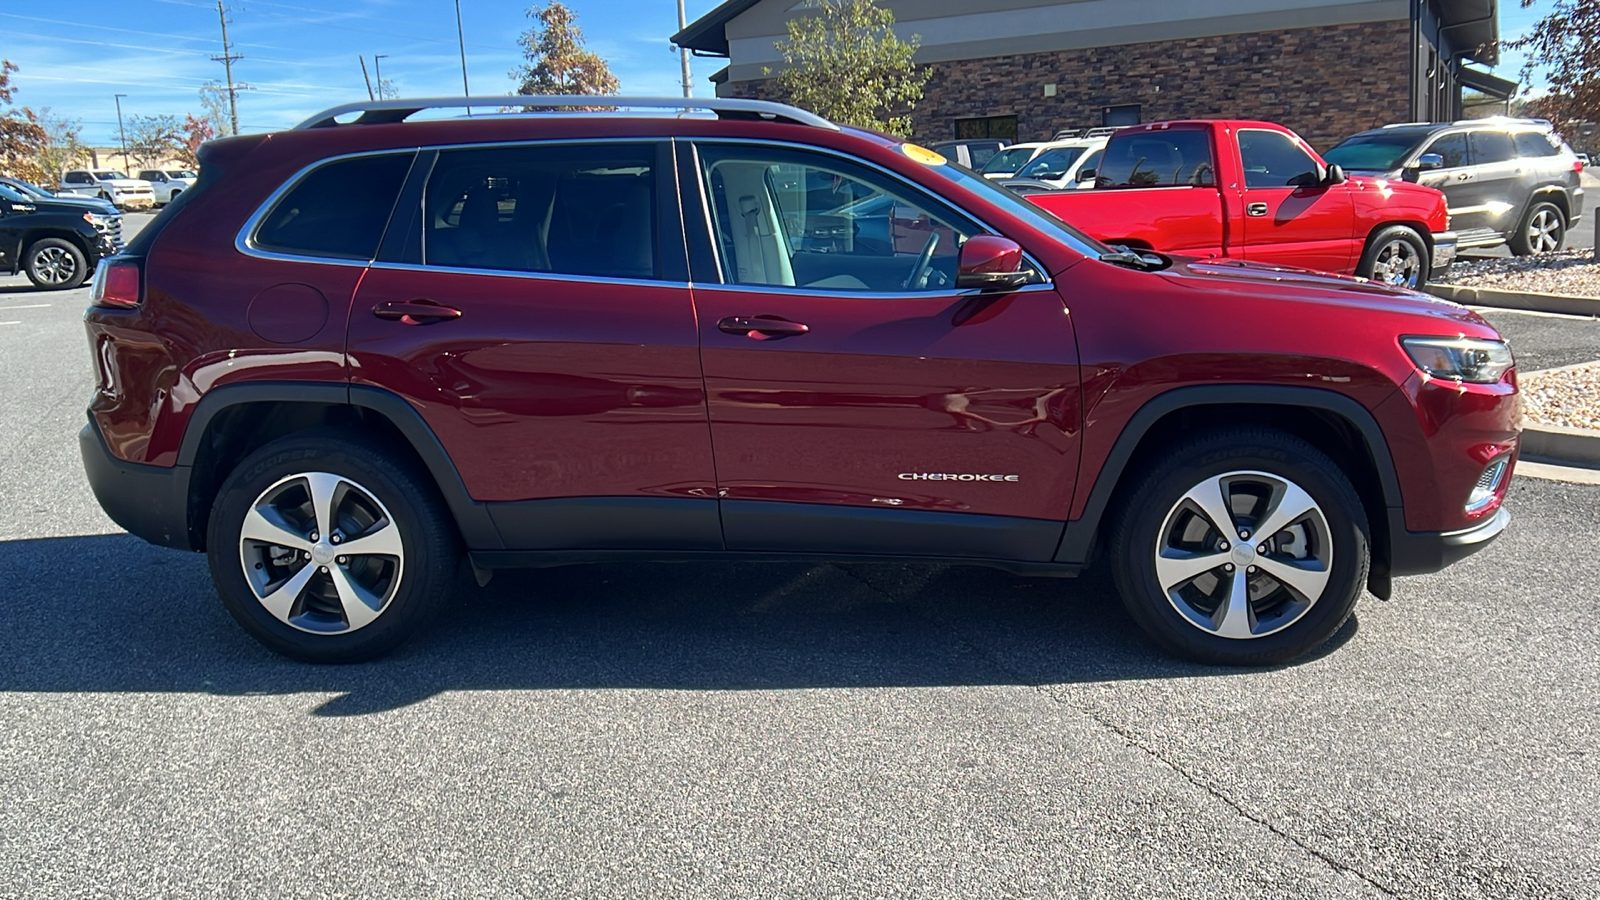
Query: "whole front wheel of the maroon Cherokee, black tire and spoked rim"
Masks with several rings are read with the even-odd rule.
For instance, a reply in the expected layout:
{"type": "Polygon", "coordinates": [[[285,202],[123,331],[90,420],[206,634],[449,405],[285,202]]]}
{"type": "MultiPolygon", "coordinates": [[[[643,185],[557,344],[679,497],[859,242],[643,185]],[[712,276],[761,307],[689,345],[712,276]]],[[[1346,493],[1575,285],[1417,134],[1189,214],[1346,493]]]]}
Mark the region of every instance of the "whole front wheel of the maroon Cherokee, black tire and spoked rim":
{"type": "MultiPolygon", "coordinates": [[[[1221,538],[1219,530],[1208,533],[1221,538]]],[[[1200,663],[1262,666],[1302,657],[1344,626],[1366,585],[1371,564],[1368,535],[1362,501],[1333,460],[1299,437],[1266,428],[1237,428],[1202,432],[1150,460],[1142,468],[1141,480],[1118,509],[1112,525],[1110,549],[1123,605],[1157,644],[1200,663]],[[1258,474],[1282,479],[1291,487],[1298,485],[1315,503],[1320,517],[1294,519],[1264,540],[1256,535],[1254,541],[1266,544],[1266,549],[1256,548],[1242,536],[1248,535],[1253,520],[1237,508],[1240,503],[1248,506],[1254,501],[1253,495],[1242,492],[1253,488],[1251,479],[1258,474]],[[1157,573],[1157,554],[1163,552],[1162,548],[1171,546],[1173,535],[1192,535],[1205,528],[1210,519],[1198,516],[1198,508],[1192,506],[1186,495],[1192,490],[1203,493],[1200,487],[1219,476],[1238,479],[1221,484],[1224,493],[1237,488],[1229,495],[1234,498],[1230,501],[1234,506],[1227,512],[1235,517],[1235,527],[1242,522],[1245,530],[1227,535],[1230,543],[1216,540],[1210,546],[1198,544],[1195,556],[1219,554],[1218,559],[1229,560],[1226,562],[1229,569],[1224,572],[1219,565],[1189,581],[1174,581],[1170,594],[1157,573]],[[1283,535],[1290,535],[1291,541],[1285,543],[1283,535]],[[1306,557],[1293,557],[1293,543],[1307,551],[1306,557]],[[1269,565],[1282,567],[1285,562],[1317,564],[1310,549],[1317,549],[1331,562],[1320,569],[1320,573],[1326,575],[1320,594],[1306,602],[1302,594],[1294,594],[1285,583],[1266,573],[1269,565]],[[1194,604],[1205,607],[1208,602],[1205,589],[1211,588],[1211,599],[1216,599],[1227,594],[1234,585],[1232,572],[1237,572],[1237,565],[1230,560],[1240,557],[1227,551],[1243,554],[1258,564],[1245,567],[1243,596],[1250,617],[1240,621],[1248,621],[1251,629],[1261,626],[1259,636],[1224,637],[1221,629],[1213,629],[1214,621],[1197,625],[1200,618],[1194,604]],[[1262,556],[1254,556],[1258,551],[1262,556]],[[1253,572],[1259,573],[1251,575],[1253,572]],[[1262,591],[1259,602],[1251,597],[1250,591],[1254,589],[1262,591]],[[1266,618],[1258,618],[1258,613],[1266,618]],[[1270,631],[1275,621],[1285,625],[1270,631]]],[[[1166,551],[1166,556],[1171,552],[1166,551]]],[[[1216,605],[1214,612],[1227,618],[1221,605],[1216,605]]]]}

